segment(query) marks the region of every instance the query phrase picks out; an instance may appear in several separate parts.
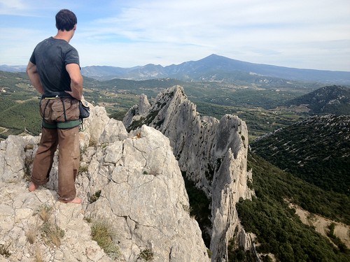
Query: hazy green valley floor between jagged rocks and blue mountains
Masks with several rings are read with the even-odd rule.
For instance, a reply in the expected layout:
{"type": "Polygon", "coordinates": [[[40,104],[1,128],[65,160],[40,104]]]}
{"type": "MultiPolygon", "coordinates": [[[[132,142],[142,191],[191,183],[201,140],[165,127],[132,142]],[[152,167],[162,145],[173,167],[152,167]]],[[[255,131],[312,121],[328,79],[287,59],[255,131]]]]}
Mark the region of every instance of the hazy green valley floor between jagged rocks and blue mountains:
{"type": "MultiPolygon", "coordinates": [[[[29,87],[25,73],[9,73],[0,71],[0,86],[6,92],[0,93],[0,126],[8,128],[1,134],[6,138],[10,134],[25,131],[37,135],[40,132],[40,116],[37,112],[39,96],[36,90],[29,87]],[[33,98],[33,100],[29,100],[33,98]],[[28,101],[29,100],[29,101],[28,101]],[[20,102],[20,103],[19,103],[20,102]],[[24,110],[27,108],[28,110],[24,110]],[[17,115],[25,122],[11,124],[17,115]],[[30,121],[29,121],[30,119],[30,121]],[[29,122],[29,123],[28,123],[29,122]]],[[[225,114],[238,115],[248,125],[249,137],[254,140],[264,133],[274,131],[283,126],[304,119],[306,115],[292,110],[273,110],[280,103],[305,94],[318,85],[298,86],[296,89],[267,89],[252,85],[233,85],[225,82],[183,82],[174,79],[162,80],[109,80],[99,81],[85,78],[84,96],[92,105],[102,105],[111,117],[123,119],[125,112],[139,101],[141,94],[146,94],[150,103],[158,93],[174,85],[183,86],[188,99],[197,105],[200,115],[220,119],[225,114]]]]}

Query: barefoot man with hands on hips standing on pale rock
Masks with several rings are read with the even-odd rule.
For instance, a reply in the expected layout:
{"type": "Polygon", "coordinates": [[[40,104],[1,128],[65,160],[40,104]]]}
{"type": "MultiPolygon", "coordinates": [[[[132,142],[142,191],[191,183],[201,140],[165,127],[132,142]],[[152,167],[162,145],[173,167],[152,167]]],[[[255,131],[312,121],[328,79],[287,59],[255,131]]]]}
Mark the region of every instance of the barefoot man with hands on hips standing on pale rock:
{"type": "Polygon", "coordinates": [[[73,12],[60,10],[56,15],[57,35],[36,45],[27,66],[31,84],[42,95],[40,113],[43,117],[29,191],[50,179],[58,145],[58,200],[80,204],[82,200],[76,197],[75,180],[80,160],[78,104],[83,96],[83,77],[78,52],[69,44],[76,24],[73,12]]]}

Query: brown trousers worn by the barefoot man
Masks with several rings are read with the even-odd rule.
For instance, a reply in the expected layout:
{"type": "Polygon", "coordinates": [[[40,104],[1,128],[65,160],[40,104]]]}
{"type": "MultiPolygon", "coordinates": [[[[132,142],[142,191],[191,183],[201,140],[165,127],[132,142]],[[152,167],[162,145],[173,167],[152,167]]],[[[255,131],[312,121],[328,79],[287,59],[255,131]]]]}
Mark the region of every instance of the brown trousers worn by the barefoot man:
{"type": "MultiPolygon", "coordinates": [[[[61,106],[62,108],[62,106],[61,106]]],[[[66,114],[67,121],[77,119],[79,115],[78,105],[75,99],[52,99],[41,101],[41,115],[54,125],[55,120],[62,119],[66,114]],[[59,103],[64,103],[64,109],[59,113],[59,103]],[[52,110],[53,108],[53,110],[52,110]],[[63,112],[64,111],[64,112],[63,112]]],[[[59,149],[58,155],[58,195],[63,201],[72,201],[76,197],[75,180],[79,168],[79,127],[71,129],[42,129],[41,140],[34,158],[31,181],[36,185],[42,185],[50,179],[53,157],[59,149]]]]}

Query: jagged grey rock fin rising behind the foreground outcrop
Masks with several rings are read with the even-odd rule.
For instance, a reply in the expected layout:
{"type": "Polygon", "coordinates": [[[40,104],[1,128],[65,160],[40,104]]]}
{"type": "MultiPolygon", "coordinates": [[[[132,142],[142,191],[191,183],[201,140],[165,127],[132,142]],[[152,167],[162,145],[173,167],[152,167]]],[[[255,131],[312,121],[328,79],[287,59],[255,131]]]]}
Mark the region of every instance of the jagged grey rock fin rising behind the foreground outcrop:
{"type": "MultiPolygon", "coordinates": [[[[148,102],[143,97],[141,103],[148,102]]],[[[220,121],[200,117],[195,104],[188,101],[179,86],[160,93],[148,112],[137,112],[137,105],[127,112],[125,126],[148,124],[164,133],[186,177],[211,198],[212,261],[227,261],[228,241],[234,235],[239,236],[236,239],[241,245],[250,248],[251,236],[242,230],[235,209],[239,198],[251,199],[254,194],[247,187],[252,177],[246,170],[245,122],[233,115],[225,115],[220,121]]]]}

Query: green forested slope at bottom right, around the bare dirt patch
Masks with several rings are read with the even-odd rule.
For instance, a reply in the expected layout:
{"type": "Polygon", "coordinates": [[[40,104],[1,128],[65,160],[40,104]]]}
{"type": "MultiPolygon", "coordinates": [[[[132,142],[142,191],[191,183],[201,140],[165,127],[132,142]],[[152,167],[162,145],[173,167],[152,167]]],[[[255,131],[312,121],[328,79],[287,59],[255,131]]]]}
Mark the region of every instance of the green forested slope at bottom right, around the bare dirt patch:
{"type": "MultiPolygon", "coordinates": [[[[256,198],[239,201],[237,212],[247,232],[257,235],[263,261],[349,261],[349,249],[337,238],[326,238],[302,224],[289,202],[349,225],[349,196],[325,192],[283,172],[255,154],[248,155],[256,198]],[[332,241],[330,240],[332,239],[332,241]]],[[[333,228],[334,229],[334,228],[333,228]]],[[[329,229],[332,236],[332,228],[329,229]]],[[[251,254],[230,250],[229,261],[254,261],[251,254]]]]}

